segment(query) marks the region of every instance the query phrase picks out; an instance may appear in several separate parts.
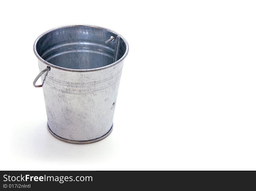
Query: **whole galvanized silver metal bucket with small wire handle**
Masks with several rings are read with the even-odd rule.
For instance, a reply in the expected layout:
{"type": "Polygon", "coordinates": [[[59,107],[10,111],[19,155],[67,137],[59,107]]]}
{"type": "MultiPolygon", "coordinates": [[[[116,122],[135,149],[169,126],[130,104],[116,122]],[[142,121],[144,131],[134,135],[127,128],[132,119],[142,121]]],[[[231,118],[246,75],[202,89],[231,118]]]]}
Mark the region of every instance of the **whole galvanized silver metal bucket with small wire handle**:
{"type": "MultiPolygon", "coordinates": [[[[53,28],[34,43],[43,87],[47,126],[59,140],[87,144],[113,129],[119,81],[128,44],[107,28],[53,28]]],[[[38,78],[42,85],[35,85],[38,78]]]]}

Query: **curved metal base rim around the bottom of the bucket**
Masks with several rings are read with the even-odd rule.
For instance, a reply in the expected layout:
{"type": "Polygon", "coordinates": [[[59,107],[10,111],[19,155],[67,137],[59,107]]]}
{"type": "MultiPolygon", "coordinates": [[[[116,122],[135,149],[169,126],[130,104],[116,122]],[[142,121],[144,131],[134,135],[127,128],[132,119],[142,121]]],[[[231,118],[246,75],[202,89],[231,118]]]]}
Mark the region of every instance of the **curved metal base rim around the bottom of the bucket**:
{"type": "Polygon", "coordinates": [[[47,122],[47,129],[51,133],[51,135],[54,136],[58,140],[61,140],[61,141],[67,142],[67,143],[71,143],[71,144],[89,144],[89,143],[98,142],[98,141],[106,138],[107,136],[109,136],[109,134],[113,130],[113,124],[112,124],[111,128],[109,129],[109,131],[105,135],[103,135],[103,136],[101,136],[99,138],[96,138],[96,139],[86,140],[86,141],[73,141],[73,140],[64,139],[62,137],[59,137],[58,135],[56,135],[54,132],[51,131],[51,129],[50,129],[49,125],[48,125],[48,122],[47,122]]]}

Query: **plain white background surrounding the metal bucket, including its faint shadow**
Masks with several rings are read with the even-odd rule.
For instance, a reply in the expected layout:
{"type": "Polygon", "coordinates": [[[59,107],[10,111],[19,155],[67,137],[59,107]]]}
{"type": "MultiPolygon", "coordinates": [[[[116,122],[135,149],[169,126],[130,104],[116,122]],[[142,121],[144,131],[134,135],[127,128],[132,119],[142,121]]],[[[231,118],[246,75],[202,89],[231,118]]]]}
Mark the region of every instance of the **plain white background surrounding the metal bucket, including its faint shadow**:
{"type": "Polygon", "coordinates": [[[1,170],[256,170],[255,1],[3,1],[1,170]],[[47,130],[33,43],[67,24],[123,35],[114,129],[47,130]]]}

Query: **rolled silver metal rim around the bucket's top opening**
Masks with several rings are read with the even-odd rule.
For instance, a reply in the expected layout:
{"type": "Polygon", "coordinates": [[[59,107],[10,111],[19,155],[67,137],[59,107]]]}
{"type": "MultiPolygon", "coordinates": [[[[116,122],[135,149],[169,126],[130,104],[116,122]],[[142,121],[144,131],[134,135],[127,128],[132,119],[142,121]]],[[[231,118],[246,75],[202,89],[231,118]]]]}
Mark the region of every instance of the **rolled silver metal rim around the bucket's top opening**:
{"type": "Polygon", "coordinates": [[[35,40],[33,49],[34,49],[35,56],[36,56],[42,63],[45,63],[46,65],[48,65],[48,66],[50,66],[50,67],[53,67],[53,68],[56,68],[56,69],[65,70],[65,71],[70,71],[70,72],[93,72],[93,71],[98,71],[98,70],[102,70],[102,69],[106,69],[106,68],[112,67],[112,66],[114,66],[114,65],[116,65],[116,64],[118,64],[118,63],[120,63],[120,62],[122,62],[122,60],[124,60],[125,57],[126,57],[127,54],[128,54],[129,46],[128,46],[127,41],[125,40],[125,38],[124,38],[122,35],[116,33],[115,31],[112,31],[112,30],[110,30],[110,29],[108,29],[108,28],[104,28],[104,27],[101,27],[101,26],[95,26],[95,25],[87,25],[87,24],[72,24],[72,25],[58,26],[58,27],[52,28],[52,29],[50,29],[50,30],[48,30],[48,31],[46,31],[46,32],[44,32],[44,33],[42,33],[42,34],[35,40]],[[103,66],[103,67],[92,68],[92,69],[70,69],[70,68],[64,68],[64,67],[60,67],[60,66],[56,66],[56,65],[54,65],[54,64],[51,64],[51,63],[47,62],[46,60],[44,60],[43,58],[41,58],[41,56],[39,56],[39,54],[38,54],[38,52],[37,52],[37,50],[36,50],[36,44],[37,44],[38,40],[39,40],[42,36],[44,36],[45,34],[51,32],[51,31],[54,31],[54,30],[56,30],[56,29],[59,29],[59,28],[66,28],[66,27],[73,27],[73,26],[89,26],[89,27],[94,27],[94,28],[100,28],[100,29],[109,31],[109,32],[111,32],[111,33],[114,33],[114,34],[116,34],[116,35],[119,35],[120,38],[122,38],[122,40],[125,42],[126,50],[125,50],[124,55],[123,55],[119,60],[115,61],[114,63],[111,63],[111,64],[106,65],[106,66],[103,66]]]}

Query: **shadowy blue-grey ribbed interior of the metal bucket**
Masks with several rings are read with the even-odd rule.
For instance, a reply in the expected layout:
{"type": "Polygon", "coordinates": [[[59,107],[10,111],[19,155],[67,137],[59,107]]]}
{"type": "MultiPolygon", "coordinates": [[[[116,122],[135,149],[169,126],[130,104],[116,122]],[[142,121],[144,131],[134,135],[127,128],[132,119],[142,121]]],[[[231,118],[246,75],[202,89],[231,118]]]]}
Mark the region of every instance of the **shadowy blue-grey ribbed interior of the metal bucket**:
{"type": "Polygon", "coordinates": [[[68,69],[93,69],[119,60],[127,49],[116,33],[92,26],[67,26],[42,35],[35,45],[45,61],[68,69]],[[114,37],[114,40],[110,38],[114,37]]]}

